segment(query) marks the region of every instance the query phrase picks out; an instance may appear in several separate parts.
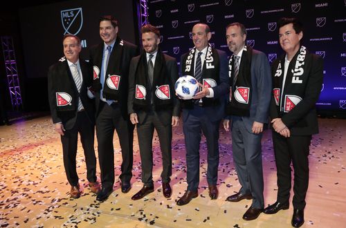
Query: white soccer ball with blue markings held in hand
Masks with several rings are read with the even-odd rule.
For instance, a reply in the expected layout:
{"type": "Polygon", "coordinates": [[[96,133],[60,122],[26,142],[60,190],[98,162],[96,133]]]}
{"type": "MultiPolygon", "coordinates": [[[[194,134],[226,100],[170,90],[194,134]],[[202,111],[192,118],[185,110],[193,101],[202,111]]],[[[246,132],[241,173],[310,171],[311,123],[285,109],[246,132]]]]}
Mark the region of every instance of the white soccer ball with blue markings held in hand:
{"type": "Polygon", "coordinates": [[[192,97],[199,92],[197,80],[190,75],[179,77],[179,79],[176,80],[174,88],[176,95],[178,95],[180,99],[192,99],[192,97]]]}

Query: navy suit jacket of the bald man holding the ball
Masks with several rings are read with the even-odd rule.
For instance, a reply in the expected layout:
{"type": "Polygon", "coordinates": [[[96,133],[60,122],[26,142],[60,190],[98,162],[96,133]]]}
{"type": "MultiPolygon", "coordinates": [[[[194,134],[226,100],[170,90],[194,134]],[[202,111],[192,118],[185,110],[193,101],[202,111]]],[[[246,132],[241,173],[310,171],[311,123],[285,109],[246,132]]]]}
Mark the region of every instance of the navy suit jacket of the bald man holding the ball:
{"type": "MultiPolygon", "coordinates": [[[[219,72],[219,84],[215,87],[212,87],[212,90],[214,91],[214,97],[213,99],[219,99],[219,105],[217,106],[209,106],[203,108],[203,110],[206,112],[206,115],[210,117],[210,120],[212,122],[215,122],[217,120],[221,120],[224,117],[225,113],[225,105],[226,105],[226,94],[229,91],[229,79],[228,79],[228,61],[227,61],[227,55],[223,50],[218,50],[217,53],[219,54],[220,58],[220,72],[219,72]]],[[[183,59],[185,59],[186,55],[189,53],[185,53],[181,55],[181,62],[183,62],[183,59]]],[[[203,64],[202,69],[202,75],[206,70],[206,63],[203,64]]],[[[183,70],[181,70],[183,72],[183,70]]],[[[190,111],[187,108],[183,109],[183,121],[187,120],[188,115],[190,111]]]]}

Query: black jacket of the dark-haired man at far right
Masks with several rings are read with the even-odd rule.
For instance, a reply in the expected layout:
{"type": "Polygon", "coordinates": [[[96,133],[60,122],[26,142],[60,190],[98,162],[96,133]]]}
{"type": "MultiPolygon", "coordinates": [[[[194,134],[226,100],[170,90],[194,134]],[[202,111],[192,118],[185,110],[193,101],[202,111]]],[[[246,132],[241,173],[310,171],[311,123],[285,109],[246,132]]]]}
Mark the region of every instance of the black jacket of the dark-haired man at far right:
{"type": "MultiPolygon", "coordinates": [[[[323,60],[318,55],[309,53],[305,59],[303,78],[307,79],[307,87],[305,89],[302,100],[289,113],[280,113],[279,108],[275,105],[275,99],[271,100],[271,118],[281,117],[282,122],[289,128],[291,135],[312,135],[318,133],[318,120],[316,113],[316,102],[320,96],[323,83],[323,60]]],[[[273,64],[274,65],[274,64],[273,64]]],[[[273,75],[276,69],[272,68],[273,75]]],[[[284,72],[284,65],[282,65],[284,72]]],[[[285,82],[288,84],[291,82],[285,82]]],[[[281,87],[280,87],[281,88],[281,87]]]]}

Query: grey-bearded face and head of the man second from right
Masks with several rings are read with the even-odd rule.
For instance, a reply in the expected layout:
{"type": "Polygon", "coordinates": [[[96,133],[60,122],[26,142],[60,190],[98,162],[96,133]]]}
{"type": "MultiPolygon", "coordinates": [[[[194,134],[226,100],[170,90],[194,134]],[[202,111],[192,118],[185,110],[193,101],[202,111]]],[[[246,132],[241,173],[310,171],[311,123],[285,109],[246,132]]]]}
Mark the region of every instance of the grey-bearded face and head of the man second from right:
{"type": "Polygon", "coordinates": [[[239,26],[230,26],[226,30],[226,40],[230,51],[237,55],[245,46],[246,34],[242,35],[242,29],[239,26]]]}

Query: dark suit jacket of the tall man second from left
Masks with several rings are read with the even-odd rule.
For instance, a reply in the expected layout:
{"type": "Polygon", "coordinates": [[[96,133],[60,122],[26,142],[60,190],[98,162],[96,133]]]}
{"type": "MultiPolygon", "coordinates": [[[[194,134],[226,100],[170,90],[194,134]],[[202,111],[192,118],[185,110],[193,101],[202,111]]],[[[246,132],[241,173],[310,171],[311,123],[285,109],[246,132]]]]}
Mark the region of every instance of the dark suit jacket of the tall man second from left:
{"type": "MultiPolygon", "coordinates": [[[[102,55],[104,50],[104,43],[93,46],[90,49],[90,61],[93,66],[98,66],[101,69],[102,65],[102,55]]],[[[120,97],[121,99],[116,101],[120,104],[122,117],[127,120],[127,95],[128,95],[128,84],[129,84],[129,64],[132,57],[138,55],[138,48],[134,44],[124,41],[124,49],[122,50],[122,60],[121,60],[121,80],[120,82],[120,97]]],[[[116,53],[111,52],[109,57],[109,62],[107,66],[106,75],[112,75],[113,69],[115,68],[114,59],[116,58],[116,53]]],[[[100,92],[95,93],[95,104],[96,104],[96,115],[100,112],[100,92]]]]}

